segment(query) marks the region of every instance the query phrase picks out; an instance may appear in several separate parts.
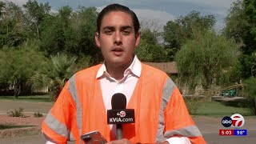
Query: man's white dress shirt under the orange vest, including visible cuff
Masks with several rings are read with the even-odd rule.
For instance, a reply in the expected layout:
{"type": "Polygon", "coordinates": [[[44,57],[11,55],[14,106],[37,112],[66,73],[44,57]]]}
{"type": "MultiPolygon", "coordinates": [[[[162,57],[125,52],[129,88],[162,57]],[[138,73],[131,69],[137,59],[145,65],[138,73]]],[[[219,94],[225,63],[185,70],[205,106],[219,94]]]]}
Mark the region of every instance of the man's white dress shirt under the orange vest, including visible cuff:
{"type": "MultiPolygon", "coordinates": [[[[138,78],[141,76],[142,63],[138,60],[137,56],[134,56],[134,60],[131,65],[124,71],[122,80],[118,81],[111,77],[106,71],[105,62],[99,68],[96,78],[100,79],[102,88],[103,102],[106,110],[112,109],[111,98],[116,93],[122,93],[126,96],[126,106],[130,101],[130,98],[134,92],[134,88],[138,82],[138,78]]],[[[115,134],[115,125],[110,125],[111,132],[115,134]]],[[[180,144],[190,144],[190,140],[186,137],[172,137],[168,138],[170,144],[180,143],[180,144]]],[[[46,144],[52,144],[51,142],[46,144]]]]}

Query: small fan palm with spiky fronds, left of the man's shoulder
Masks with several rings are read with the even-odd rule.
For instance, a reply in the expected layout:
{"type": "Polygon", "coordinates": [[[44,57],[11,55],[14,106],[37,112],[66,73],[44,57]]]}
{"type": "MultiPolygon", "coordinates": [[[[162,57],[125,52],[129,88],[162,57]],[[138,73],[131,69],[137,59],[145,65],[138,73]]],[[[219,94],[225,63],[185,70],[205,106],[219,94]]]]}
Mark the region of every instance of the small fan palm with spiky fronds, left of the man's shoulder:
{"type": "Polygon", "coordinates": [[[50,87],[53,91],[52,99],[56,101],[66,81],[75,72],[76,60],[76,57],[70,57],[67,54],[58,53],[55,56],[50,56],[50,62],[43,69],[38,70],[30,78],[30,82],[35,88],[50,87]]]}

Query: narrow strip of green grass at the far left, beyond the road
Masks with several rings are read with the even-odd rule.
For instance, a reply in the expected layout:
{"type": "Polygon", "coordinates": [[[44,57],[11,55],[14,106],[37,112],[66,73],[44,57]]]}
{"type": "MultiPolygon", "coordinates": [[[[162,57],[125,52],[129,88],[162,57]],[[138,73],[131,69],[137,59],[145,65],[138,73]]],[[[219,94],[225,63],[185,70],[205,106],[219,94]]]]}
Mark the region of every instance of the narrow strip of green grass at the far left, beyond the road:
{"type": "Polygon", "coordinates": [[[14,96],[0,96],[0,99],[12,100],[12,101],[28,101],[28,102],[52,102],[50,94],[46,95],[22,95],[15,99],[14,96]]]}

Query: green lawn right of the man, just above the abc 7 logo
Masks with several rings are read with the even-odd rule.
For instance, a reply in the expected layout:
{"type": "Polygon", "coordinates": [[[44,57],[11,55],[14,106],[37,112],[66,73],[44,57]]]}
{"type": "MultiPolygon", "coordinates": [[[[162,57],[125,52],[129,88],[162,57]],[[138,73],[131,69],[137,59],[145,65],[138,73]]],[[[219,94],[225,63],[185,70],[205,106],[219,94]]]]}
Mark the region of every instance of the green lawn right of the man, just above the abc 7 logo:
{"type": "Polygon", "coordinates": [[[242,116],[254,115],[249,108],[249,103],[246,100],[240,101],[212,101],[202,102],[198,107],[197,116],[224,117],[232,114],[242,114],[242,116]]]}

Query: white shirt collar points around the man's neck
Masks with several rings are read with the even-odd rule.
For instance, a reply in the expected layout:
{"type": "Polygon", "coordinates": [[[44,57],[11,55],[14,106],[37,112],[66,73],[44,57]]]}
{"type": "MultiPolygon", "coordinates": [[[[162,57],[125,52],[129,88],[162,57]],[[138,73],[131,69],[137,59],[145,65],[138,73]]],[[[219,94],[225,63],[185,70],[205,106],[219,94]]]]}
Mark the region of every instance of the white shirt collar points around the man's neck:
{"type": "MultiPolygon", "coordinates": [[[[128,71],[131,71],[132,74],[135,74],[137,77],[141,76],[142,72],[142,62],[138,60],[138,57],[135,55],[133,62],[130,64],[130,66],[125,70],[125,73],[128,71]]],[[[106,65],[105,61],[103,62],[102,66],[98,69],[98,73],[96,75],[96,78],[100,78],[102,76],[110,77],[110,74],[106,71],[106,65]]]]}

